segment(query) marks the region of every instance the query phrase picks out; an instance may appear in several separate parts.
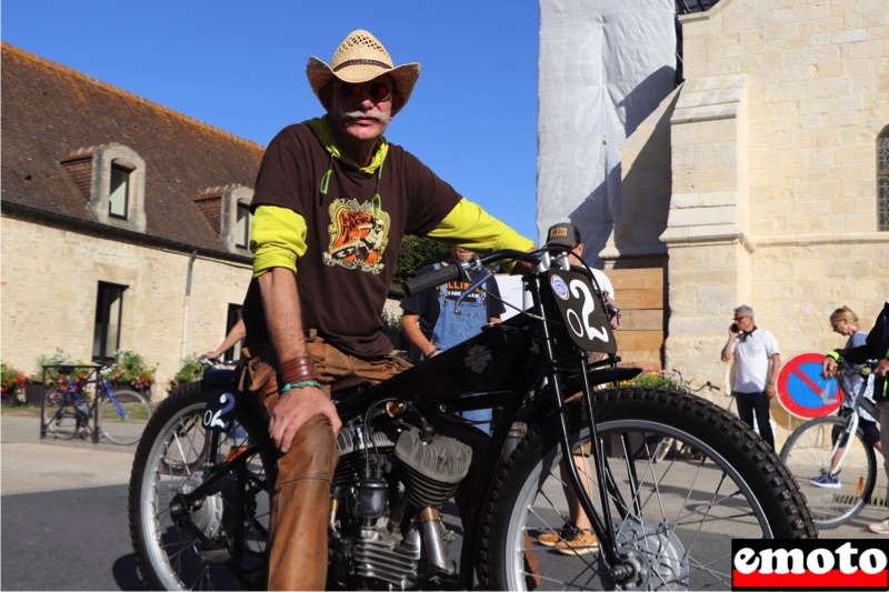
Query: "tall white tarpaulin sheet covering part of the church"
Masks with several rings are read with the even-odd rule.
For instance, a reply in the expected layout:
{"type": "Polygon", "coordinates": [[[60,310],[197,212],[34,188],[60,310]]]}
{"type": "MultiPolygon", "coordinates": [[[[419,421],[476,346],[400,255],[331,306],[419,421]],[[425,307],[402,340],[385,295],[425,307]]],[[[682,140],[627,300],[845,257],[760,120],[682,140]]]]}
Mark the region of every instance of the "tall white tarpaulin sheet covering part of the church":
{"type": "Polygon", "coordinates": [[[540,0],[537,229],[599,251],[620,212],[620,147],[676,83],[673,0],[540,0]]]}

